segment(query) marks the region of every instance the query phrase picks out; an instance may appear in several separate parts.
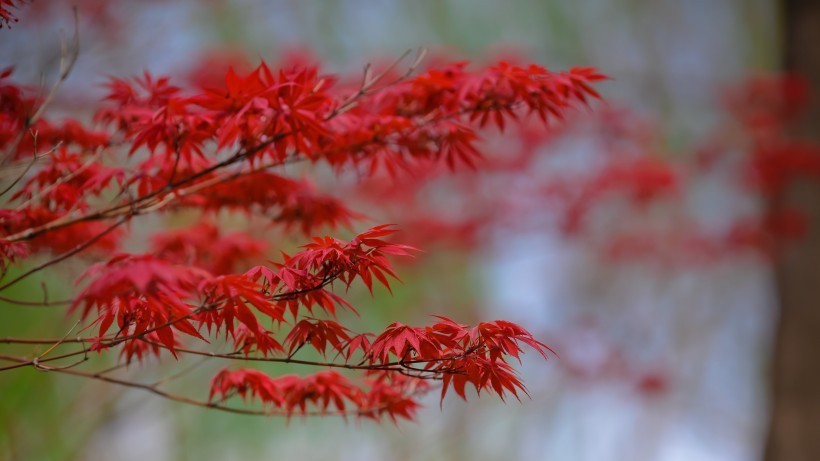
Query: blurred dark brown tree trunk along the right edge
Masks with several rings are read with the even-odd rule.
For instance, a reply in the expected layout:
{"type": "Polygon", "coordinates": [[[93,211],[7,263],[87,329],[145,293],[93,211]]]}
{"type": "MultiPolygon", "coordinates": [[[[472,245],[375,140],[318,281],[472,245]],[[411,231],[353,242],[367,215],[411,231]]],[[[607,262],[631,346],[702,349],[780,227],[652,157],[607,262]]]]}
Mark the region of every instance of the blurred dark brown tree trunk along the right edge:
{"type": "MultiPolygon", "coordinates": [[[[820,1],[784,3],[784,66],[807,77],[820,92],[820,1]]],[[[814,95],[795,133],[820,140],[820,104],[814,95]]],[[[796,185],[784,203],[809,217],[805,239],[776,267],[780,321],[772,357],[771,427],[767,461],[820,460],[820,187],[796,185]]],[[[784,203],[774,203],[773,207],[784,203]]]]}

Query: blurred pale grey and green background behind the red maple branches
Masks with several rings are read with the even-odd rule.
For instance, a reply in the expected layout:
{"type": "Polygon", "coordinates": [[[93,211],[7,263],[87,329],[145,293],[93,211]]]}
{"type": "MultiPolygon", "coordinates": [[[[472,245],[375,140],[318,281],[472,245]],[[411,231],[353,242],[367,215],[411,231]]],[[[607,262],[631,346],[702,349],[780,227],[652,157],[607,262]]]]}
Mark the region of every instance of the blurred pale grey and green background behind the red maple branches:
{"type": "MultiPolygon", "coordinates": [[[[99,97],[105,76],[144,69],[185,75],[209,56],[276,62],[299,50],[309,50],[325,71],[349,75],[367,62],[425,47],[455,60],[514,55],[556,70],[593,66],[612,80],[599,88],[603,103],[577,111],[566,129],[529,146],[545,159],[537,168],[523,176],[488,175],[458,197],[458,207],[489,209],[496,217],[471,234],[471,244],[453,243],[459,238],[452,236],[430,242],[418,262],[399,267],[404,283],[392,298],[352,294],[361,312],[376,313],[367,318],[376,328],[394,320],[424,323],[433,313],[465,323],[521,323],[559,356],[525,357],[520,370],[530,398],[465,403],[451,397],[439,408],[430,395],[416,422],[397,427],[337,418],[285,422],[20,370],[0,376],[0,458],[762,458],[774,269],[759,248],[727,250],[721,236],[766,203],[736,177],[743,143],[721,136],[731,137],[729,89],[780,65],[775,2],[86,0],[78,6],[81,54],[57,113],[76,110],[78,95],[99,97]],[[700,168],[714,146],[729,155],[700,168]],[[562,186],[572,193],[573,184],[587,184],[613,158],[648,158],[671,165],[675,176],[659,184],[652,176],[649,197],[638,205],[618,194],[596,201],[587,207],[594,209],[584,208],[582,224],[572,221],[575,208],[567,202],[499,199],[501,190],[524,196],[533,184],[558,188],[556,177],[570,178],[562,186]],[[513,217],[498,219],[501,211],[513,217]],[[646,229],[651,235],[639,232],[646,229]]],[[[35,1],[18,16],[19,24],[0,31],[0,68],[14,64],[18,79],[37,83],[53,75],[60,35],[73,30],[71,2],[35,1]]],[[[523,148],[515,140],[491,142],[510,146],[497,150],[523,148]]],[[[441,206],[440,191],[448,186],[436,187],[423,195],[438,197],[431,207],[441,206]]],[[[402,224],[401,213],[363,211],[402,224]]],[[[145,221],[151,225],[158,223],[145,221]]],[[[64,277],[63,290],[71,278],[64,277]]],[[[32,282],[20,290],[38,287],[32,282]]],[[[0,337],[41,332],[53,316],[4,309],[0,337]]],[[[186,360],[172,366],[196,365],[186,360]]],[[[206,380],[216,366],[208,367],[186,382],[206,380]]],[[[163,371],[152,364],[133,373],[163,371]]]]}

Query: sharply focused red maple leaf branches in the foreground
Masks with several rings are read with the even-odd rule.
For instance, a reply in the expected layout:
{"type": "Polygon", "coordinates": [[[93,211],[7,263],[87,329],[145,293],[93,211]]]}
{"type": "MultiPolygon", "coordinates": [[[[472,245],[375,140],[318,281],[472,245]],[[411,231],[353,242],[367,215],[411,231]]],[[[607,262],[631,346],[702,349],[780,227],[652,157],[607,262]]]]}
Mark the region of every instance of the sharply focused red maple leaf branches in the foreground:
{"type": "Polygon", "coordinates": [[[312,237],[267,260],[272,247],[284,246],[271,235],[304,238],[364,217],[346,197],[308,179],[323,166],[325,174],[388,181],[419,167],[474,169],[484,161],[482,129],[552,123],[598,98],[593,85],[605,78],[588,68],[553,72],[509,62],[418,71],[421,57],[404,73],[400,61],[378,74],[368,67],[359,84],[304,63],[229,68],[217,87],[182,86],[149,72],[112,77],[92,123],[50,120],[47,99],[14,83],[11,69],[0,73],[0,152],[13,172],[2,191],[9,196],[0,210],[0,292],[69,258],[89,266],[70,300],[4,297],[21,306],[67,305],[87,334],[55,340],[19,366],[253,414],[395,421],[412,418],[417,399],[436,382],[442,398],[454,389],[466,399],[468,388],[520,397],[526,390],[509,360],[519,359],[523,346],[545,358],[550,349],[519,325],[470,327],[437,317],[430,326],[393,323],[381,332],[345,326],[345,316],[357,313],[343,296],[347,289],[361,283],[371,294],[376,285],[389,291],[398,279],[391,260],[418,252],[393,241],[394,226],[349,240],[312,237]],[[134,223],[147,214],[193,214],[196,222],[156,232],[143,252],[127,252],[134,223]],[[226,233],[219,225],[225,216],[253,223],[253,235],[226,233]],[[45,262],[5,280],[33,257],[45,262]],[[231,352],[208,347],[216,343],[231,352]],[[82,348],[48,356],[72,346],[82,348]],[[304,349],[322,360],[301,355],[304,349]],[[214,376],[208,400],[198,401],[84,370],[84,361],[47,365],[89,350],[118,351],[125,364],[170,354],[333,370],[272,377],[226,368],[214,376]],[[230,406],[234,396],[263,408],[230,406]]]}

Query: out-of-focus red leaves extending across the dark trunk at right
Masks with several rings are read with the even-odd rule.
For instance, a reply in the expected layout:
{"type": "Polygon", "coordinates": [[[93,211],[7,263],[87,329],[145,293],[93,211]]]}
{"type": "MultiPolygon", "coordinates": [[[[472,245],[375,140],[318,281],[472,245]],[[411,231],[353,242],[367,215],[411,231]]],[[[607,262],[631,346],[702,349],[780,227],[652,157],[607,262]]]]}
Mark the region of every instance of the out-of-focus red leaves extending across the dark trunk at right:
{"type": "MultiPolygon", "coordinates": [[[[577,171],[538,178],[533,193],[546,199],[562,231],[619,262],[704,264],[749,252],[776,258],[808,226],[788,191],[820,179],[820,145],[794,130],[808,97],[807,82],[792,75],[741,82],[727,90],[723,124],[687,146],[689,153],[663,153],[668,147],[652,123],[604,110],[591,135],[584,132],[601,153],[577,171]],[[745,205],[706,211],[704,187],[743,196],[745,205]]],[[[556,131],[546,142],[562,138],[556,131]]],[[[516,216],[533,210],[525,208],[526,192],[510,199],[524,204],[516,216]]]]}

